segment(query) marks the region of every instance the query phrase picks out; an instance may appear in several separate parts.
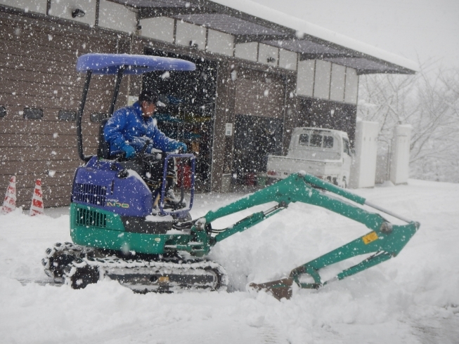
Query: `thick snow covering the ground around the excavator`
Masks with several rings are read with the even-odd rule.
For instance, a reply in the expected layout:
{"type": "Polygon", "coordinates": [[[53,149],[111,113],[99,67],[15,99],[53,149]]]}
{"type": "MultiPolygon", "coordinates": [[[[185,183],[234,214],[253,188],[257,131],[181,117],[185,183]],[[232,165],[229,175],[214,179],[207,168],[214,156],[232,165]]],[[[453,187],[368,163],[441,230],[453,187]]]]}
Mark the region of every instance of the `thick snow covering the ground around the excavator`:
{"type": "MultiPolygon", "coordinates": [[[[44,250],[70,241],[67,209],[1,216],[0,342],[459,343],[459,185],[410,180],[355,192],[419,221],[419,232],[398,257],[282,302],[245,286],[285,277],[368,230],[291,204],[214,247],[229,292],[141,295],[109,280],[77,291],[43,283],[44,250]]],[[[238,196],[200,194],[193,218],[238,196]]]]}

